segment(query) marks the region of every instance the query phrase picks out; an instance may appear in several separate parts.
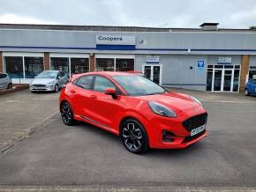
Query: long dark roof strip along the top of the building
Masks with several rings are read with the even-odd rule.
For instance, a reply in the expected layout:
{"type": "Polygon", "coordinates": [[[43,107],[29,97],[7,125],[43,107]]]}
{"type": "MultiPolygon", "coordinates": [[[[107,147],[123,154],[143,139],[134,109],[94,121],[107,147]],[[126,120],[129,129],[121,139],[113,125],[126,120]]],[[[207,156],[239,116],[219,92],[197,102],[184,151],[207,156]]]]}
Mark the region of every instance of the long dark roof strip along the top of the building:
{"type": "MultiPolygon", "coordinates": [[[[71,26],[71,25],[35,25],[35,24],[0,24],[0,29],[41,29],[72,31],[108,31],[108,32],[208,32],[201,28],[169,28],[144,26],[71,26]]],[[[218,28],[215,32],[254,32],[255,29],[218,28]]]]}

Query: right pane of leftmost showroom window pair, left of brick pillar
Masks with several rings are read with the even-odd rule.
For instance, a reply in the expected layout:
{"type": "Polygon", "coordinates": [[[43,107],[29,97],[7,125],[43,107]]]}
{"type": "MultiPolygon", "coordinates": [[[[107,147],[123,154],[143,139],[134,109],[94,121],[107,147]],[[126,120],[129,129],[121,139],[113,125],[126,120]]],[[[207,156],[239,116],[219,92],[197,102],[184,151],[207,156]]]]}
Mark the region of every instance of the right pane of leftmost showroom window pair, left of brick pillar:
{"type": "Polygon", "coordinates": [[[34,78],[43,70],[42,57],[24,57],[25,78],[34,78]]]}

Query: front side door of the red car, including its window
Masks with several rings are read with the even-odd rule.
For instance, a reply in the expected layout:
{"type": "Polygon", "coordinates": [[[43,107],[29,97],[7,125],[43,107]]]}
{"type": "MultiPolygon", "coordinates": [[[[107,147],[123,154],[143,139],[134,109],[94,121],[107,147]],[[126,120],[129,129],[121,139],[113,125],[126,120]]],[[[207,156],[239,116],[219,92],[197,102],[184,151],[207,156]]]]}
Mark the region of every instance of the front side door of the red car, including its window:
{"type": "MultiPolygon", "coordinates": [[[[113,120],[117,118],[118,112],[120,112],[123,107],[120,97],[117,100],[114,100],[112,96],[104,93],[107,88],[117,90],[117,86],[108,78],[95,76],[93,92],[90,96],[87,110],[90,112],[90,118],[94,122],[97,122],[108,129],[112,129],[114,125],[113,120]]],[[[117,90],[117,92],[120,91],[117,90]]]]}

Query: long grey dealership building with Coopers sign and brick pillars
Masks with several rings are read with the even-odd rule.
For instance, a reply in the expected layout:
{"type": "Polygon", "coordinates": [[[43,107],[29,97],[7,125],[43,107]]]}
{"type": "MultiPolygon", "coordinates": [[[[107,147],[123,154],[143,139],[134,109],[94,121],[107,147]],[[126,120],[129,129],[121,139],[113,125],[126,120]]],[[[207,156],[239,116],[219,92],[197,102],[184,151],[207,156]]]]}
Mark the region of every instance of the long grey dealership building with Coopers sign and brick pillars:
{"type": "Polygon", "coordinates": [[[0,72],[27,84],[42,70],[140,70],[155,83],[242,92],[256,78],[256,31],[0,24],[0,72]]]}

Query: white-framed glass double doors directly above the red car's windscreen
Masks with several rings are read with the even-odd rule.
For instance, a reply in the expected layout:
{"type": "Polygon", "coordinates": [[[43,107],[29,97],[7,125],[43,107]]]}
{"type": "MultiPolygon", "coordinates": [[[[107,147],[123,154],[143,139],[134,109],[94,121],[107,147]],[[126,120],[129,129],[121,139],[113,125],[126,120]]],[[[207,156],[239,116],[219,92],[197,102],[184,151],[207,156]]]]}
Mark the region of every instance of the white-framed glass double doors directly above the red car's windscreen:
{"type": "Polygon", "coordinates": [[[142,71],[145,78],[162,85],[162,64],[143,64],[142,71]]]}

